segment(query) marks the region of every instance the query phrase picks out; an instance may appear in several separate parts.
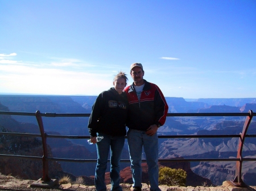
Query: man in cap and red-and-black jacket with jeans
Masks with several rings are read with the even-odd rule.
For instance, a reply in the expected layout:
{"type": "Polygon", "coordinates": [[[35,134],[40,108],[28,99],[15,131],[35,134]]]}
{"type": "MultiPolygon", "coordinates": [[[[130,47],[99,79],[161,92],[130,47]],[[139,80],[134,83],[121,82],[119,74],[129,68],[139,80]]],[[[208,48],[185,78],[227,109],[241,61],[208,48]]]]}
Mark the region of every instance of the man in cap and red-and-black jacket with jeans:
{"type": "Polygon", "coordinates": [[[141,191],[142,147],[146,154],[150,190],[159,191],[158,187],[158,135],[157,130],[166,121],[168,105],[159,87],[143,79],[141,63],[130,67],[133,84],[125,88],[129,101],[129,122],[127,141],[129,146],[133,190],[141,191]]]}

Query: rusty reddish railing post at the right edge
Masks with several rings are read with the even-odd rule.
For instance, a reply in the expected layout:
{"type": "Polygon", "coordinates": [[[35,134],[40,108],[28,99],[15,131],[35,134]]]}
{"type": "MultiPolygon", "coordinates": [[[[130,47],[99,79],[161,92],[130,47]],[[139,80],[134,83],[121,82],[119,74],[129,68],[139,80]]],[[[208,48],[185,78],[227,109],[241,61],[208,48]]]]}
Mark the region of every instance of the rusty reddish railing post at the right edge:
{"type": "Polygon", "coordinates": [[[253,118],[253,111],[249,110],[249,116],[246,117],[245,123],[243,124],[243,131],[240,133],[240,139],[238,143],[238,150],[237,150],[237,158],[240,159],[236,163],[236,177],[233,181],[231,181],[237,187],[246,187],[245,183],[242,180],[242,150],[243,150],[243,143],[245,142],[245,135],[247,129],[249,128],[251,119],[253,118]]]}

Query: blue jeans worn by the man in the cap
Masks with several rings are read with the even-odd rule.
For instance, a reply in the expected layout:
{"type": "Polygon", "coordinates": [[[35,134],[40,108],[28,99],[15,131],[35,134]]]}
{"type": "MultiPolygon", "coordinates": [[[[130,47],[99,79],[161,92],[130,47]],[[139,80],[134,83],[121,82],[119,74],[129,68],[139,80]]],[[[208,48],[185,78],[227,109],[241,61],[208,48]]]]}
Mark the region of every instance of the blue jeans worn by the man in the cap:
{"type": "Polygon", "coordinates": [[[158,187],[158,135],[148,136],[146,131],[128,129],[127,141],[129,146],[133,186],[142,187],[142,147],[146,154],[150,190],[160,191],[158,187]]]}

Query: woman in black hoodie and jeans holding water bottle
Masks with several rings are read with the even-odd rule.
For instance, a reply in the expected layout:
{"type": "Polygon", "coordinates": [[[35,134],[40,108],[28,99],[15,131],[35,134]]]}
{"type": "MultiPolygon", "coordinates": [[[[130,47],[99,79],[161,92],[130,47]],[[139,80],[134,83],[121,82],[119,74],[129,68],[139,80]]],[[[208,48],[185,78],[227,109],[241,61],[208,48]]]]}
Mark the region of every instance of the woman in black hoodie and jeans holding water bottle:
{"type": "Polygon", "coordinates": [[[122,191],[119,185],[119,161],[125,144],[126,120],[128,101],[123,89],[126,87],[127,77],[123,72],[115,75],[114,87],[102,92],[93,104],[88,128],[90,141],[96,143],[97,136],[104,138],[96,143],[97,165],[95,172],[95,186],[97,191],[106,190],[105,171],[110,148],[110,180],[111,190],[122,191]]]}

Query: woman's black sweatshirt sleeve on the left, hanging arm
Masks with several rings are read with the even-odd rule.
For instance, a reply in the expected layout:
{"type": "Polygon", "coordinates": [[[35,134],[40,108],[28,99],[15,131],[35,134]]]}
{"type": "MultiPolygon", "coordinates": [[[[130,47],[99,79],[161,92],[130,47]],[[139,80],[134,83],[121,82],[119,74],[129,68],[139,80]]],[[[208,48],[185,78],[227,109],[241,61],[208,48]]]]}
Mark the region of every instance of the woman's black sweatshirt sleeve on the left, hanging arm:
{"type": "Polygon", "coordinates": [[[103,109],[104,109],[104,99],[103,99],[103,94],[101,93],[100,95],[98,95],[96,101],[94,102],[92,107],[92,113],[90,113],[89,122],[88,122],[90,137],[97,136],[98,120],[101,117],[103,109]]]}

